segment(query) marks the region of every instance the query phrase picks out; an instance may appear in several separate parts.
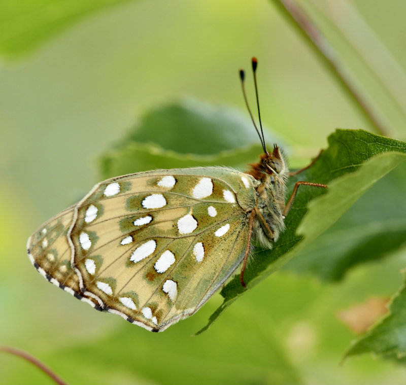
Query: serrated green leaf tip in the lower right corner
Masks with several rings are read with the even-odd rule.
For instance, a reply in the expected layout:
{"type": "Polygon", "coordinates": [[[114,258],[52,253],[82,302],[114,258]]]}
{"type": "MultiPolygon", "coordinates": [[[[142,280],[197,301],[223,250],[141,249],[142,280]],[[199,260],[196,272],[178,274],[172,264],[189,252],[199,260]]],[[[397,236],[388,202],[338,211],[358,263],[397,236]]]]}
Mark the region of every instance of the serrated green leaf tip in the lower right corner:
{"type": "Polygon", "coordinates": [[[353,342],[344,359],[373,353],[406,363],[406,271],[403,278],[402,287],[391,299],[388,314],[353,342]]]}

